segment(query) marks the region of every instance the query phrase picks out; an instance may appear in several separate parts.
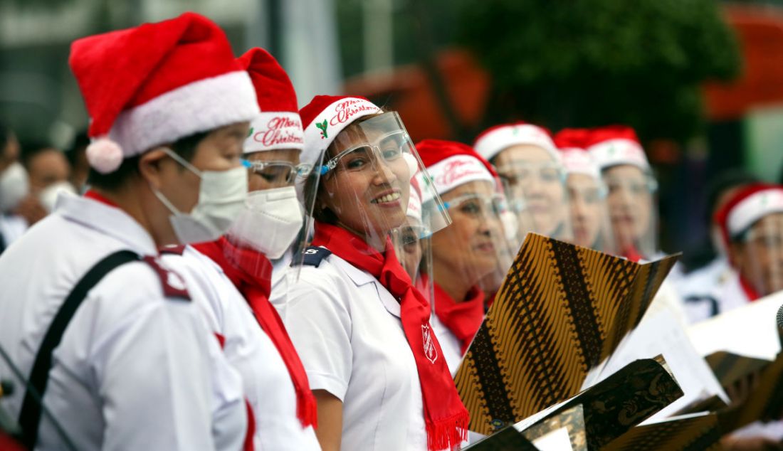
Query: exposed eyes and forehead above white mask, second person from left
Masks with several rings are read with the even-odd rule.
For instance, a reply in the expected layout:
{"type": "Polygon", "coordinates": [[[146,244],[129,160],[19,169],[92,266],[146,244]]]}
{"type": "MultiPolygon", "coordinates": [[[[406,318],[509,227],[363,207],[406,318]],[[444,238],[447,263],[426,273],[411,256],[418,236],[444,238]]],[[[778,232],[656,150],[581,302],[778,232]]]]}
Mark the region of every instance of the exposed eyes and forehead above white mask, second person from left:
{"type": "Polygon", "coordinates": [[[278,149],[246,154],[245,159],[251,163],[266,163],[249,170],[247,191],[293,186],[294,177],[290,175],[290,171],[295,171],[299,164],[299,153],[300,150],[297,149],[278,149]]]}

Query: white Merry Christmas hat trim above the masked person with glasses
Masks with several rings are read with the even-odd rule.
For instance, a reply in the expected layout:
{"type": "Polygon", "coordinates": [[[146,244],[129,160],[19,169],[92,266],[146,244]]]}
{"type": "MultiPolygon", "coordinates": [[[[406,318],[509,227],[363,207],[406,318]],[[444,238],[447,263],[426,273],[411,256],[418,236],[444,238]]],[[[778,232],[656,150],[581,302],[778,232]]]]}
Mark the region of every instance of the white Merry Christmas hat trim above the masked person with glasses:
{"type": "Polygon", "coordinates": [[[305,132],[298,113],[265,111],[255,117],[250,127],[250,135],[243,146],[244,153],[305,148],[305,132]]]}

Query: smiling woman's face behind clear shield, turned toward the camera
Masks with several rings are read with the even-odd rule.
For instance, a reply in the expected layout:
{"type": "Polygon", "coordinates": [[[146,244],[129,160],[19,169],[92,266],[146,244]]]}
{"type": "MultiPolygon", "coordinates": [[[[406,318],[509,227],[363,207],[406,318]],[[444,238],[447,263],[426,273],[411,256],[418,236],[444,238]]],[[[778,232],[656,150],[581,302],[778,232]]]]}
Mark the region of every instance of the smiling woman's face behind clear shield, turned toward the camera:
{"type": "Polygon", "coordinates": [[[343,130],[324,156],[329,161],[342,155],[323,175],[317,200],[339,225],[381,240],[406,220],[411,178],[406,158],[393,154],[399,143],[385,135],[371,128],[343,130]]]}

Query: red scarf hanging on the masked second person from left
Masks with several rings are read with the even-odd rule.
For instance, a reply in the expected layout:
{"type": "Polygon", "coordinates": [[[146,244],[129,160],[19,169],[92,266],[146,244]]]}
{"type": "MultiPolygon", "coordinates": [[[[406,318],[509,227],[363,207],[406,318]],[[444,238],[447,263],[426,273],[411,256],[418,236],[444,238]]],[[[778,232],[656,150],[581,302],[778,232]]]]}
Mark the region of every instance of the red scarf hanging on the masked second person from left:
{"type": "Polygon", "coordinates": [[[299,421],[303,427],[312,424],[313,428],[317,428],[316,397],[310,390],[305,366],[301,364],[280,315],[269,302],[269,293],[272,290],[272,263],[264,254],[247,247],[235,246],[225,237],[210,243],[196,244],[193,247],[217,263],[247,300],[261,328],[272,340],[277,352],[280,352],[280,357],[283,358],[283,363],[286,364],[296,390],[296,415],[299,421]]]}

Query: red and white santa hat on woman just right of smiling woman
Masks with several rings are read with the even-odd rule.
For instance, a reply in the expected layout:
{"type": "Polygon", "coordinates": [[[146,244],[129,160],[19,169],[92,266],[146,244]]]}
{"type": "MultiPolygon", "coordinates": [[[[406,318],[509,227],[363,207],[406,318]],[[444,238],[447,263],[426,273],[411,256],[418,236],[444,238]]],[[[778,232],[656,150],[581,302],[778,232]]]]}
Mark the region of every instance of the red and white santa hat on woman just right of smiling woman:
{"type": "Polygon", "coordinates": [[[424,139],[416,145],[416,150],[438,194],[478,180],[496,184],[497,173],[492,164],[471,146],[454,141],[424,139]]]}

